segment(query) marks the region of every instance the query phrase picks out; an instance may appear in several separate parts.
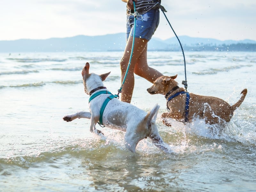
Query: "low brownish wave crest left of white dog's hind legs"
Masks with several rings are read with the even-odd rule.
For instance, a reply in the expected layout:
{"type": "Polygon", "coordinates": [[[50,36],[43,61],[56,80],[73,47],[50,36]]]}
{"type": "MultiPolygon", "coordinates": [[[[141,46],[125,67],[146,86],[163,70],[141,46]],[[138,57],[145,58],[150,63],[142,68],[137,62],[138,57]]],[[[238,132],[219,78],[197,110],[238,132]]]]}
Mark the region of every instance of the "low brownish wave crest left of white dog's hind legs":
{"type": "MultiPolygon", "coordinates": [[[[101,140],[99,137],[95,136],[95,138],[93,137],[86,141],[76,140],[73,141],[73,143],[69,143],[66,145],[62,143],[63,146],[59,146],[58,148],[47,149],[47,151],[42,151],[35,155],[17,155],[0,158],[0,174],[3,174],[1,173],[1,169],[8,170],[6,169],[6,167],[8,166],[18,166],[28,169],[42,162],[53,163],[54,161],[56,161],[56,159],[60,159],[63,156],[84,157],[90,154],[98,154],[99,148],[105,148],[105,153],[108,153],[109,151],[118,150],[123,151],[124,156],[127,155],[125,147],[118,146],[120,145],[118,141],[116,141],[115,143],[108,141],[107,144],[102,145],[103,143],[106,143],[106,141],[101,140]]],[[[102,153],[104,153],[104,150],[102,153]]]]}

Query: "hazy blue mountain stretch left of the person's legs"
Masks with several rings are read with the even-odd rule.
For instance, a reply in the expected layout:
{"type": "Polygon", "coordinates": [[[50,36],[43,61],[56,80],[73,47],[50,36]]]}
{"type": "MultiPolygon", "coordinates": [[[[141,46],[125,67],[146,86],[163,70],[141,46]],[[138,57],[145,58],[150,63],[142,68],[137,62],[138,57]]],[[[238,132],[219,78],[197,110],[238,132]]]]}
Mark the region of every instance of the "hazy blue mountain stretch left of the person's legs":
{"type": "Polygon", "coordinates": [[[74,36],[45,40],[19,39],[0,41],[0,52],[69,52],[123,50],[124,34],[104,36],[74,36]]]}

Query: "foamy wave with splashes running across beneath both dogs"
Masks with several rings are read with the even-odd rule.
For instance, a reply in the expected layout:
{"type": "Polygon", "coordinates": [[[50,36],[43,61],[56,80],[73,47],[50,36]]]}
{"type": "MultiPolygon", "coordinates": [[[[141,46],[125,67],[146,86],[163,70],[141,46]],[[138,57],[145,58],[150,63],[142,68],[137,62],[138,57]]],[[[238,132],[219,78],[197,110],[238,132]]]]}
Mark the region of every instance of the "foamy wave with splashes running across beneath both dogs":
{"type": "MultiPolygon", "coordinates": [[[[237,134],[234,131],[233,125],[228,126],[228,130],[220,133],[211,131],[207,124],[202,123],[201,120],[196,120],[191,124],[184,126],[183,123],[171,120],[172,131],[169,127],[159,126],[159,133],[163,136],[163,140],[173,149],[176,155],[184,153],[198,153],[198,151],[214,150],[214,148],[220,148],[223,145],[227,146],[241,146],[250,151],[255,151],[255,134],[254,136],[247,134],[246,137],[242,134],[237,134]],[[233,133],[232,133],[233,132],[233,133]],[[233,135],[233,136],[232,136],[233,135]],[[234,137],[236,136],[236,137],[234,137]],[[248,138],[249,137],[249,138],[248,138]],[[248,142],[248,139],[251,139],[248,142]],[[219,143],[218,146],[215,146],[219,143]],[[213,144],[213,145],[212,145],[213,144]],[[195,150],[196,148],[196,150],[195,150]]],[[[214,127],[211,127],[214,128],[214,127]]],[[[215,127],[217,129],[217,127],[215,127]]],[[[240,130],[241,131],[241,130],[240,130]]],[[[6,172],[1,173],[2,170],[8,170],[8,166],[18,166],[28,169],[33,166],[45,162],[52,164],[57,159],[65,156],[69,157],[86,157],[86,156],[98,156],[99,149],[102,156],[109,152],[119,154],[120,156],[127,157],[129,154],[134,156],[136,154],[127,153],[127,149],[124,144],[124,132],[117,130],[103,130],[105,133],[105,139],[100,138],[97,135],[92,135],[86,139],[75,140],[52,140],[50,146],[44,146],[38,148],[39,152],[31,155],[16,155],[0,158],[0,174],[8,174],[6,172]],[[55,143],[56,146],[52,146],[55,143]]],[[[250,133],[252,133],[250,131],[250,133]]],[[[33,143],[32,143],[33,144],[33,143]]],[[[33,144],[33,145],[36,145],[33,144]]],[[[162,154],[162,151],[156,148],[149,139],[141,140],[136,148],[138,154],[162,154]]],[[[254,154],[255,156],[255,154],[254,154]]],[[[100,156],[99,156],[100,158],[100,156]]]]}

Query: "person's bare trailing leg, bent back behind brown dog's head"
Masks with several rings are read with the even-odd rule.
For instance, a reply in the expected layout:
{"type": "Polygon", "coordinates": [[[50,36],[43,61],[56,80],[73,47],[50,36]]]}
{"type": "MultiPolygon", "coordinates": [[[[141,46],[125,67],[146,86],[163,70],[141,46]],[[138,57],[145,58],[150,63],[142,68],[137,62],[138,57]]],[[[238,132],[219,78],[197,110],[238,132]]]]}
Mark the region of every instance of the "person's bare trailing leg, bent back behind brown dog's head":
{"type": "Polygon", "coordinates": [[[139,59],[137,60],[137,63],[135,64],[134,73],[148,80],[150,83],[154,83],[154,81],[158,77],[163,76],[163,74],[157,71],[156,69],[148,66],[147,47],[148,44],[145,46],[143,52],[141,53],[139,59]]]}

